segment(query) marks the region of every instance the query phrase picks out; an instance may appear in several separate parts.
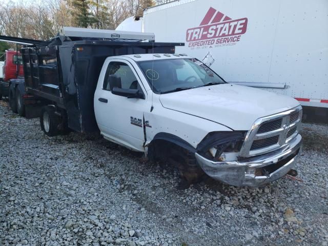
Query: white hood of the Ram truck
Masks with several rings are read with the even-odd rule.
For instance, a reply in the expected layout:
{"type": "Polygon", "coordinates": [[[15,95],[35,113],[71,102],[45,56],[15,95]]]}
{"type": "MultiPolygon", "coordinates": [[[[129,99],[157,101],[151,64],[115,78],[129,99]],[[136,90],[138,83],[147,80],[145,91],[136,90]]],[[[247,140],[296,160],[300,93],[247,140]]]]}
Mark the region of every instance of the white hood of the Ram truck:
{"type": "Polygon", "coordinates": [[[215,121],[233,130],[250,130],[260,117],[299,105],[292,97],[232,84],[161,94],[163,107],[215,121]]]}

